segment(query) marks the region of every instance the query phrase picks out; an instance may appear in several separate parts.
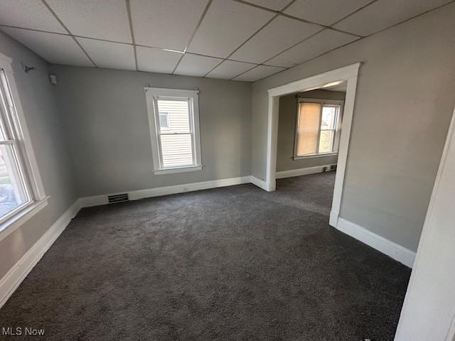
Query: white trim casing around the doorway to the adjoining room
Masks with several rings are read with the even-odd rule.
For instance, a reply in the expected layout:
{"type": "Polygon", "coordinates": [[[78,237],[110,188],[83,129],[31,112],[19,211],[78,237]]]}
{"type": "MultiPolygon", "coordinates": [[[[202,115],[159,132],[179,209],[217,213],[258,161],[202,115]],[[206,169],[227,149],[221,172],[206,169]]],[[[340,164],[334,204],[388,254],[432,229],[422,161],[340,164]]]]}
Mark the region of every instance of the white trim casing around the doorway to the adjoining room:
{"type": "MultiPolygon", "coordinates": [[[[350,141],[350,129],[353,119],[355,92],[357,88],[358,69],[361,63],[355,63],[340,67],[336,70],[323,72],[319,75],[306,77],[302,80],[290,82],[279,87],[268,90],[269,109],[267,116],[267,157],[265,172],[265,188],[274,191],[277,183],[277,142],[278,142],[278,117],[279,117],[279,97],[296,92],[319,89],[331,82],[347,82],[346,99],[344,102],[343,118],[341,122],[341,137],[338,149],[338,167],[333,188],[332,208],[333,216],[338,217],[341,207],[341,197],[343,195],[344,177],[346,172],[346,161],[348,159],[348,148],[350,141]]],[[[331,219],[329,224],[336,227],[338,220],[331,219]]]]}

